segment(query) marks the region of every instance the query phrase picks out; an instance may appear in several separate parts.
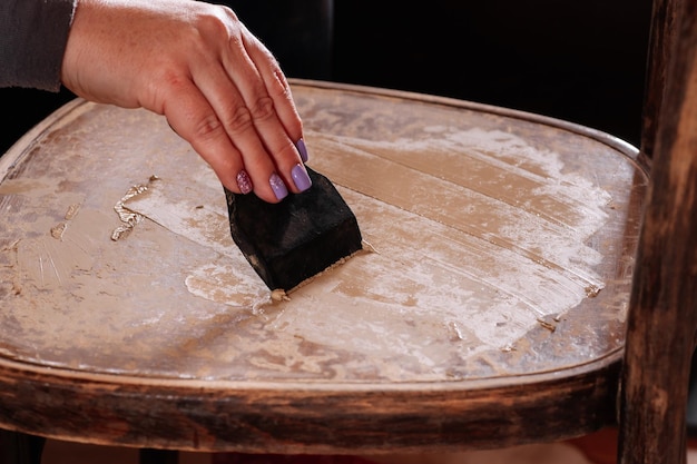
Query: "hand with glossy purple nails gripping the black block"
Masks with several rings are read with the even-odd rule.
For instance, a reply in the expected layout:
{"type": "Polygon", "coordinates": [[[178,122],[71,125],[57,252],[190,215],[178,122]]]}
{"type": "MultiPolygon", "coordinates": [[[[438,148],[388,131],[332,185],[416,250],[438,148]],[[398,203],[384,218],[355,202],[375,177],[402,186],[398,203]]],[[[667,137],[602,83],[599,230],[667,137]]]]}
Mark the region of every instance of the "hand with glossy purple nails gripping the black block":
{"type": "Polygon", "coordinates": [[[276,203],[310,187],[286,78],[226,7],[79,0],[61,79],[88,100],[165,115],[232,191],[276,203]]]}

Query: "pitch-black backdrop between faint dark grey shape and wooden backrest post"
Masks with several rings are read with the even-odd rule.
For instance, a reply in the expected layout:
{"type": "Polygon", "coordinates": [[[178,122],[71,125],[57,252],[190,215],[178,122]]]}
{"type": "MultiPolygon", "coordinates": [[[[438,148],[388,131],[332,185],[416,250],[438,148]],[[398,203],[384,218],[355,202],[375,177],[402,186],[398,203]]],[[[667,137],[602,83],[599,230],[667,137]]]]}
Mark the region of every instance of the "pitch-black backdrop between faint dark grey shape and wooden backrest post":
{"type": "Polygon", "coordinates": [[[420,3],[338,1],[335,77],[539,112],[638,145],[650,1],[420,3]]]}

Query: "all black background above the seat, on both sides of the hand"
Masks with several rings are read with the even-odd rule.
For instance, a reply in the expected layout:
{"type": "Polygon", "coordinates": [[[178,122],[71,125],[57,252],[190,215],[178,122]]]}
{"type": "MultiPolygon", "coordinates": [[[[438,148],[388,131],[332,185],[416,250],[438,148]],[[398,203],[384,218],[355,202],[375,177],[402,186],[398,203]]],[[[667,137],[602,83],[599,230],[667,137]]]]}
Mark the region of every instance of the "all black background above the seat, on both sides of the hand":
{"type": "MultiPolygon", "coordinates": [[[[228,0],[288,77],[462,98],[639,142],[650,0],[228,0]]],[[[0,89],[0,152],[73,98],[0,89]]]]}

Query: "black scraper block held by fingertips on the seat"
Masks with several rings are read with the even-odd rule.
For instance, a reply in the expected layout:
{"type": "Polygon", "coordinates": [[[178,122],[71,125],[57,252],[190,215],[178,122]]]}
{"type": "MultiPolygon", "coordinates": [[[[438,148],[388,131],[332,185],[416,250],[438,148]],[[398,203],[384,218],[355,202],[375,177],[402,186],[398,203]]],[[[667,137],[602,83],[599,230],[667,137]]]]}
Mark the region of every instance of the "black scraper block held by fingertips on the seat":
{"type": "Polygon", "coordinates": [[[233,239],[272,290],[289,290],[362,248],[353,211],[326,177],[306,169],[312,187],[277,204],[225,189],[233,239]]]}

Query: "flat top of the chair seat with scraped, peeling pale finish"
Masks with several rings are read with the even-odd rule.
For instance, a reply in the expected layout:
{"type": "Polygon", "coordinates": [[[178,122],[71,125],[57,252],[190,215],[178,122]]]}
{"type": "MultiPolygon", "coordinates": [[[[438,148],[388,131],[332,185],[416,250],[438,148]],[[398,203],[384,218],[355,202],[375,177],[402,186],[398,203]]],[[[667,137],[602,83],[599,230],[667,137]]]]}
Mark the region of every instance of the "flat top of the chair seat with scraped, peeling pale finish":
{"type": "Polygon", "coordinates": [[[0,355],[138,376],[400,383],[621,347],[646,187],[631,159],[479,108],[294,96],[308,165],[376,253],[273,300],[229,236],[219,181],[166,121],[76,102],[0,159],[0,355]],[[134,186],[146,188],[128,196],[134,186]],[[141,220],[114,239],[119,205],[141,220]]]}

